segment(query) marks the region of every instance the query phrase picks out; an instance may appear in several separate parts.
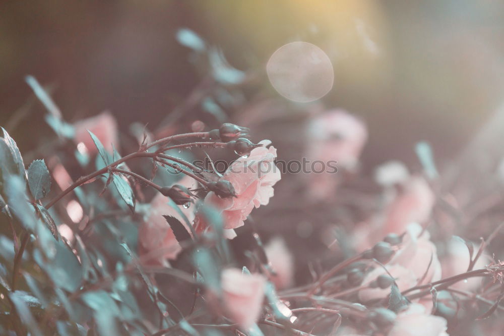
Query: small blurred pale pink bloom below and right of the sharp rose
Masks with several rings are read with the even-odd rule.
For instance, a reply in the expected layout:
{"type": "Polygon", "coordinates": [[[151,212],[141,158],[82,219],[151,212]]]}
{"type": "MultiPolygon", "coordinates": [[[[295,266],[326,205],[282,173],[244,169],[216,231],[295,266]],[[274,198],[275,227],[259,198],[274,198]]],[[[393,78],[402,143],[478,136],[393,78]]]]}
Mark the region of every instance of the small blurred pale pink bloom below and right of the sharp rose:
{"type": "Polygon", "coordinates": [[[264,248],[271,269],[275,275],[271,281],[277,289],[288,288],[292,285],[294,276],[294,260],[285,242],[281,238],[272,239],[264,248]]]}

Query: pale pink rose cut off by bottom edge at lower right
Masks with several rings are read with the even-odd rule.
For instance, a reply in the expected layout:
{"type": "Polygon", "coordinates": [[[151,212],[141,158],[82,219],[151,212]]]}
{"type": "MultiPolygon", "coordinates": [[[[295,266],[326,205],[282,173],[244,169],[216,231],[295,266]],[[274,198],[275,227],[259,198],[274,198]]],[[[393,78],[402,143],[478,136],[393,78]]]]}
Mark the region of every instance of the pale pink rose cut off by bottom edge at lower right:
{"type": "Polygon", "coordinates": [[[399,313],[388,336],[448,336],[447,321],[428,315],[420,304],[412,303],[399,313]]]}

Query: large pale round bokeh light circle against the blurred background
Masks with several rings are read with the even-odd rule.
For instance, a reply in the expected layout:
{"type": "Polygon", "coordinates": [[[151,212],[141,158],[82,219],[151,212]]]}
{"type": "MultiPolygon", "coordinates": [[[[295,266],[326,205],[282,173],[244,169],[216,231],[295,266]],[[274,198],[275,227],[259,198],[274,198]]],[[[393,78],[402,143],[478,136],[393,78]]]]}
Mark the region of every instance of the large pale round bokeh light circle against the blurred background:
{"type": "Polygon", "coordinates": [[[328,55],[307,42],[280,47],[271,55],[266,72],[275,90],[295,102],[320,99],[334,84],[334,69],[328,55]]]}

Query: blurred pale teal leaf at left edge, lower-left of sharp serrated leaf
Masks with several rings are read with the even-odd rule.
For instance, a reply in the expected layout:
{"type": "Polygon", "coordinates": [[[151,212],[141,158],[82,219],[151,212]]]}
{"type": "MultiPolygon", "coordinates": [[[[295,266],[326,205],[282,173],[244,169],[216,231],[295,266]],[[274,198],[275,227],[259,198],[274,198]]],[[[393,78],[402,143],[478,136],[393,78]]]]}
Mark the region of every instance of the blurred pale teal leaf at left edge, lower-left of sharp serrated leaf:
{"type": "Polygon", "coordinates": [[[7,204],[11,212],[19,218],[26,229],[34,230],[37,219],[35,209],[28,203],[25,181],[19,176],[11,175],[5,187],[7,204]]]}

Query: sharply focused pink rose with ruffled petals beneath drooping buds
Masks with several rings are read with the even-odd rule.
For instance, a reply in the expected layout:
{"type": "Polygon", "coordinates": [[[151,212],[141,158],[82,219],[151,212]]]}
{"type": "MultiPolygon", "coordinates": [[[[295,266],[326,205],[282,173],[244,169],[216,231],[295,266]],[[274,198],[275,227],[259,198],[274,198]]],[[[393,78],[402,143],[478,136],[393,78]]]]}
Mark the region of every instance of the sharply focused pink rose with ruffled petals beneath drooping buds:
{"type": "Polygon", "coordinates": [[[243,225],[243,220],[254,207],[268,204],[273,196],[273,186],[280,180],[280,171],[275,166],[277,150],[269,140],[260,142],[262,147],[253,149],[248,157],[234,161],[221,180],[229,181],[237,197],[220,198],[209,192],[205,202],[214,206],[222,214],[224,229],[235,229],[243,225]]]}

